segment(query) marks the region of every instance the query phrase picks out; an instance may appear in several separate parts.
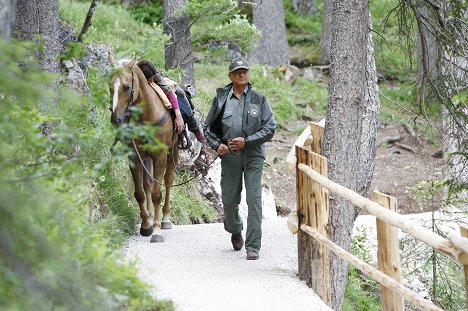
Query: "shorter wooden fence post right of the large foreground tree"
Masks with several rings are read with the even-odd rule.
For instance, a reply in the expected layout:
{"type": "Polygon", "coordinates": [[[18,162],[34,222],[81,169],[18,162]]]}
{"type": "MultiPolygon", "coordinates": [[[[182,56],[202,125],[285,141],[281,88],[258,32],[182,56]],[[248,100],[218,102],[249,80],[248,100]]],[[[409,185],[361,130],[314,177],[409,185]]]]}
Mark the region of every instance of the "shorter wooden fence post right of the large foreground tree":
{"type": "MultiPolygon", "coordinates": [[[[397,200],[384,193],[374,191],[372,200],[394,212],[397,211],[397,200]]],[[[377,221],[377,258],[379,269],[389,277],[400,282],[401,262],[398,247],[398,229],[384,221],[377,221]]],[[[380,285],[383,311],[403,311],[403,298],[391,289],[380,285]]]]}

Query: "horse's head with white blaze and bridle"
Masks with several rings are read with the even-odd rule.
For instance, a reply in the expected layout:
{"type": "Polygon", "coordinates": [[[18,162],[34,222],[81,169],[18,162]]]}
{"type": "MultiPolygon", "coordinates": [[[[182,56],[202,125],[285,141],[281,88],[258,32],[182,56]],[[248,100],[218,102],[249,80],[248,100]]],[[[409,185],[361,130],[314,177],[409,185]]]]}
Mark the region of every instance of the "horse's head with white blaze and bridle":
{"type": "Polygon", "coordinates": [[[139,85],[134,71],[136,59],[134,56],[131,60],[121,60],[116,63],[112,54],[109,53],[108,60],[114,70],[109,80],[111,122],[119,126],[129,121],[130,106],[138,98],[139,85]]]}

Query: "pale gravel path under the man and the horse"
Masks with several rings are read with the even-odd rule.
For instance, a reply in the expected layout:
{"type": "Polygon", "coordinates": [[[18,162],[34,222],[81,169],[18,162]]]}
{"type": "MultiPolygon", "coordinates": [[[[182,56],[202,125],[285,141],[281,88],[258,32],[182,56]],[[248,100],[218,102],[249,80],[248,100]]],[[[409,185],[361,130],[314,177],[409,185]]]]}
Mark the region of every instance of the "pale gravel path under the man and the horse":
{"type": "Polygon", "coordinates": [[[159,244],[133,236],[125,255],[177,311],[331,310],[297,277],[297,236],[286,219],[264,220],[262,227],[256,261],[246,260],[245,249],[232,250],[222,224],[174,226],[159,244]]]}

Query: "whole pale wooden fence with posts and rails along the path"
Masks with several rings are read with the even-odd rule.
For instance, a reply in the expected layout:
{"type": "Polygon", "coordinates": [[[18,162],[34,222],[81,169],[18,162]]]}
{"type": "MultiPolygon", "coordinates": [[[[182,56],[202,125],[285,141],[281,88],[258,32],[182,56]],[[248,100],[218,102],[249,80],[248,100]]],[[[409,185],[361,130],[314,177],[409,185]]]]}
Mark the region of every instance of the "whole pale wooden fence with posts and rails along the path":
{"type": "Polygon", "coordinates": [[[380,283],[382,310],[404,310],[404,299],[423,310],[442,310],[400,283],[398,229],[401,229],[464,265],[465,289],[468,298],[468,227],[461,226],[461,236],[451,235],[445,239],[398,214],[395,198],[374,192],[373,200],[369,200],[329,180],[327,159],[320,155],[323,127],[311,123],[310,131],[312,137],[306,140],[306,144],[310,145],[311,151],[305,149],[304,146],[295,147],[297,214],[292,214],[288,220],[289,229],[293,233],[298,232],[300,279],[305,280],[330,306],[331,251],[380,283]],[[328,191],[332,191],[376,217],[379,269],[351,255],[328,239],[328,191]]]}

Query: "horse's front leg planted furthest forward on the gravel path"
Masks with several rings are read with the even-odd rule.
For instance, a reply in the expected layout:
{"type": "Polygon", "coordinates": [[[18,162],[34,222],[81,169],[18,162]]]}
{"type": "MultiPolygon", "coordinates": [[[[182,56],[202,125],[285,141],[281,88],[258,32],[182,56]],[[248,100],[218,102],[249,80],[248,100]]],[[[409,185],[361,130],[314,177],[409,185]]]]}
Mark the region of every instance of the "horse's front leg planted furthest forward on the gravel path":
{"type": "Polygon", "coordinates": [[[161,206],[162,193],[161,184],[163,183],[163,175],[166,168],[166,155],[165,152],[159,152],[153,157],[153,177],[156,182],[153,184],[153,191],[151,192],[151,201],[154,206],[154,220],[153,227],[154,233],[151,237],[151,242],[164,242],[164,237],[161,234],[161,220],[159,219],[159,208],[161,206]]]}

